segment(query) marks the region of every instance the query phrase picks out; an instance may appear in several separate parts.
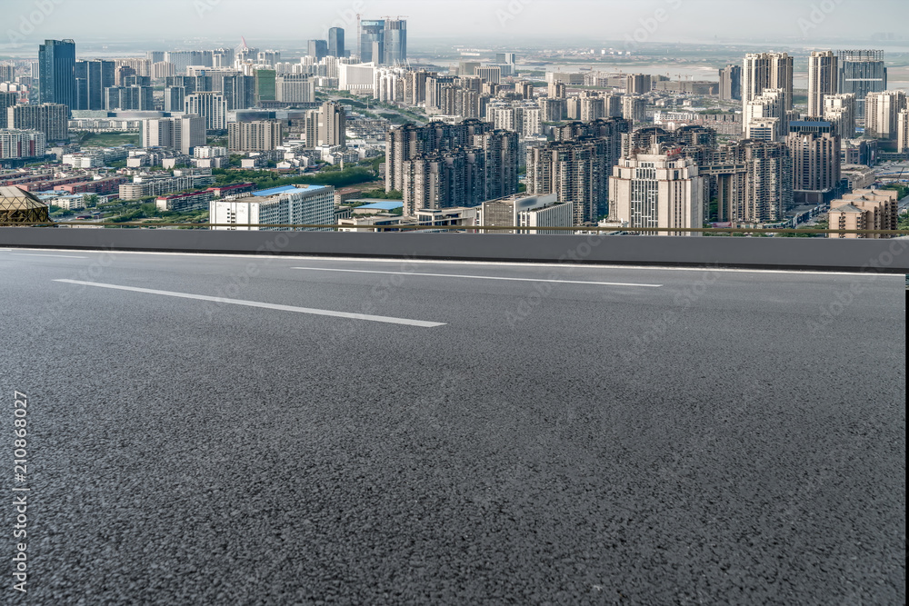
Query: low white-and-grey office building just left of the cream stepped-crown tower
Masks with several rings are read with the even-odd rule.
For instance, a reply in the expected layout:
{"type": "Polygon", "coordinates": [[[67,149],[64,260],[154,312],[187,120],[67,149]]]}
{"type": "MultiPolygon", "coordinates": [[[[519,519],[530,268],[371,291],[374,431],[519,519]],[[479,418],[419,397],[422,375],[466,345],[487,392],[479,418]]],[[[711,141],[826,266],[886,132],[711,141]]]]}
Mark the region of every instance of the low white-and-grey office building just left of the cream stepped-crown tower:
{"type": "MultiPolygon", "coordinates": [[[[478,223],[489,227],[572,227],[572,205],[560,203],[557,194],[514,194],[480,206],[478,223]]],[[[485,233],[558,234],[558,230],[495,230],[485,233]]]]}

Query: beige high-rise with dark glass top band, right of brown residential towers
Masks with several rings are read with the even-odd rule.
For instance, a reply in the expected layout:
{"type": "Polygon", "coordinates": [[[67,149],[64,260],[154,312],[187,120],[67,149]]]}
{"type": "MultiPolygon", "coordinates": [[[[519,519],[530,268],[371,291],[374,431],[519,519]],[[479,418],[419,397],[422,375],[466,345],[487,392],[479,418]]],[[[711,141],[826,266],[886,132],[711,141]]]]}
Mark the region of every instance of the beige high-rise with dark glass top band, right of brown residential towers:
{"type": "MultiPolygon", "coordinates": [[[[794,124],[798,128],[803,123],[794,124]]],[[[830,123],[820,124],[833,129],[830,123]]],[[[786,137],[786,144],[793,158],[795,204],[830,202],[840,184],[840,137],[831,132],[800,129],[786,137]]]]}

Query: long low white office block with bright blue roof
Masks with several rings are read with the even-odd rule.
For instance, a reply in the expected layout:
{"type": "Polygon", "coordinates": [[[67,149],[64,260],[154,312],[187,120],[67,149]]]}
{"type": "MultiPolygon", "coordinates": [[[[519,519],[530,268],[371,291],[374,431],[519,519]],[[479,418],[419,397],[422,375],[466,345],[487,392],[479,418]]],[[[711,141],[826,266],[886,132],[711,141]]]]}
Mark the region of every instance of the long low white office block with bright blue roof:
{"type": "Polygon", "coordinates": [[[226,231],[330,231],[327,228],[255,227],[255,225],[333,225],[335,188],[326,185],[285,185],[254,192],[251,197],[209,203],[212,227],[226,231]]]}

